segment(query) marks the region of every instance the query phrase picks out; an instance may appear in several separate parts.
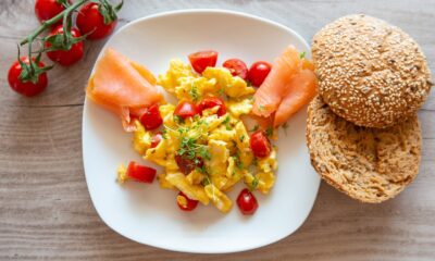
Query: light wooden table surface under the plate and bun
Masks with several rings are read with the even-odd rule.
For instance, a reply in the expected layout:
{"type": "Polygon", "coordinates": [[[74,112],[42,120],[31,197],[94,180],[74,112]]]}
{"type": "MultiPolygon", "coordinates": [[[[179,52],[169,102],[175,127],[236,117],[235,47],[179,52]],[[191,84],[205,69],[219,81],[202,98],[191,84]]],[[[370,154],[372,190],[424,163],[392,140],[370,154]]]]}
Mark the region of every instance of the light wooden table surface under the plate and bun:
{"type": "MultiPolygon", "coordinates": [[[[33,2],[0,1],[0,260],[435,260],[435,91],[420,111],[420,174],[394,200],[362,204],[322,183],[298,232],[234,254],[170,252],[117,235],[92,207],[82,162],[84,86],[103,41],[86,42],[86,57],[75,66],[51,71],[49,88],[39,97],[16,95],[7,71],[16,42],[38,25],[33,2]]],[[[308,40],[336,17],[363,12],[412,35],[435,72],[435,1],[125,2],[120,25],[174,9],[221,8],[276,21],[308,40]]]]}

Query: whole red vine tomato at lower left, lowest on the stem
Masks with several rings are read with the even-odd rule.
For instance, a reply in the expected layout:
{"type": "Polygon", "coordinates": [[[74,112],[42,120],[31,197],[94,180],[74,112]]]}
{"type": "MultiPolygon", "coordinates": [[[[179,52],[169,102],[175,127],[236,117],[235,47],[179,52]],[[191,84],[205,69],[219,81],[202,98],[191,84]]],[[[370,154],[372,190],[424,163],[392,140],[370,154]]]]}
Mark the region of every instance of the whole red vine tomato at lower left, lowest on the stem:
{"type": "MultiPolygon", "coordinates": [[[[33,60],[35,61],[35,59],[33,60]]],[[[25,64],[29,64],[28,58],[21,58],[21,61],[23,61],[25,64]]],[[[42,62],[39,62],[38,66],[44,67],[45,65],[42,62]]],[[[32,97],[42,92],[42,90],[46,89],[48,85],[47,73],[39,74],[38,82],[34,84],[32,82],[24,83],[22,79],[20,79],[22,71],[23,69],[18,61],[15,61],[9,69],[8,82],[9,86],[11,86],[13,90],[21,95],[32,97]]]]}

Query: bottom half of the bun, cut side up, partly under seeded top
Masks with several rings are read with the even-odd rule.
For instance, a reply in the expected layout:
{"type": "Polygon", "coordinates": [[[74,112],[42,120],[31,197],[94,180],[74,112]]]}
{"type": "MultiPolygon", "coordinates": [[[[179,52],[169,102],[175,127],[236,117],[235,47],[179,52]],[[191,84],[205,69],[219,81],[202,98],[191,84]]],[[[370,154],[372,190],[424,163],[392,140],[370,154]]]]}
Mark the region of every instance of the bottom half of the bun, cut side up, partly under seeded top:
{"type": "Polygon", "coordinates": [[[320,96],[308,108],[311,164],[326,183],[362,202],[390,199],[414,179],[421,140],[417,114],[389,128],[368,128],[337,116],[320,96]]]}

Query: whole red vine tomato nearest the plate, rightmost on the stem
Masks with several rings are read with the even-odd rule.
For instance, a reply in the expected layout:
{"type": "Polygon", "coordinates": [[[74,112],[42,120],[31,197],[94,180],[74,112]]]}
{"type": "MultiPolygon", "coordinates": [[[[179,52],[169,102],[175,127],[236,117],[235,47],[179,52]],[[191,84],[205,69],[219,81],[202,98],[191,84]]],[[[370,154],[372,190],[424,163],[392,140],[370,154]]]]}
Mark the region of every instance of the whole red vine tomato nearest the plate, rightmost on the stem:
{"type": "Polygon", "coordinates": [[[76,25],[82,34],[89,34],[87,39],[101,39],[112,34],[116,26],[117,20],[109,24],[104,24],[104,17],[98,10],[98,3],[86,3],[80,8],[77,14],[76,25]]]}

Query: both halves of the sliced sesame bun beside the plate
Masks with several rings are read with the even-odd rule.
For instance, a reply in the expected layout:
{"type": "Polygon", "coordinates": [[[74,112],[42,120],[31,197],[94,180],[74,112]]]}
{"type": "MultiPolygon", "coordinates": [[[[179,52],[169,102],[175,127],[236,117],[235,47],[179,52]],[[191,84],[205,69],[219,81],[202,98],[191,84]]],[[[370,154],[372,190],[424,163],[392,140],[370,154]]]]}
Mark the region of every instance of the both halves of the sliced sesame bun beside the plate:
{"type": "Polygon", "coordinates": [[[319,96],[309,105],[307,145],[324,181],[362,202],[395,197],[419,172],[417,111],[432,86],[418,44],[363,14],[313,38],[319,96]]]}

